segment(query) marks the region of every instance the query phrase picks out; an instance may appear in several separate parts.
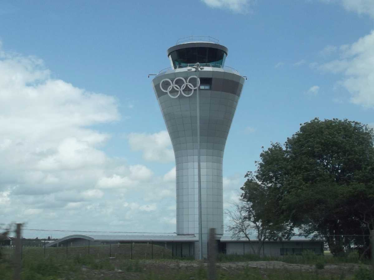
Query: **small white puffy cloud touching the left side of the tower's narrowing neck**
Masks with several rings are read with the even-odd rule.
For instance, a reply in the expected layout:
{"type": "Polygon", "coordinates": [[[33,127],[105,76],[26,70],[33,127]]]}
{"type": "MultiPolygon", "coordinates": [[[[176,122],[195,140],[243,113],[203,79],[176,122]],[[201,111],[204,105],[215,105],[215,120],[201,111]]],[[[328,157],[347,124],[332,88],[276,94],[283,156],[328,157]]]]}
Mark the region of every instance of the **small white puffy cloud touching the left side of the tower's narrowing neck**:
{"type": "Polygon", "coordinates": [[[142,151],[147,161],[174,161],[169,133],[162,130],[157,133],[130,133],[128,141],[133,151],[142,151]]]}

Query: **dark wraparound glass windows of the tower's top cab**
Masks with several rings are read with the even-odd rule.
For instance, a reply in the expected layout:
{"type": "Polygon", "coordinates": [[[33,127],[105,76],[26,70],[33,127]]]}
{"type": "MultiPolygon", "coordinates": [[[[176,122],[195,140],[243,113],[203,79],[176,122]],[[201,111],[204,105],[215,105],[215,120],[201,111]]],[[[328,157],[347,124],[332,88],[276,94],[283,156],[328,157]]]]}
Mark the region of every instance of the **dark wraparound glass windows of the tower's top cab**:
{"type": "Polygon", "coordinates": [[[199,62],[202,66],[223,67],[226,53],[223,50],[212,47],[189,47],[186,49],[174,50],[169,57],[174,68],[188,67],[188,64],[199,62]]]}

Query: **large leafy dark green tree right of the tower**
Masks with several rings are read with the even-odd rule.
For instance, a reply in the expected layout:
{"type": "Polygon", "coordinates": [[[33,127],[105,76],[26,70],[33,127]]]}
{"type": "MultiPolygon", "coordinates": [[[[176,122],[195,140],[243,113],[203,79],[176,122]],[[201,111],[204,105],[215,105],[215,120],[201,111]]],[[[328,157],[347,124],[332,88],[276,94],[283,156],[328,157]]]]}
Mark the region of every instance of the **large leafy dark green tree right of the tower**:
{"type": "Polygon", "coordinates": [[[356,121],[301,124],[284,145],[261,153],[243,197],[251,201],[253,184],[260,185],[269,198],[269,221],[324,236],[334,255],[352,242],[367,248],[363,235],[374,229],[373,141],[373,129],[356,121]]]}

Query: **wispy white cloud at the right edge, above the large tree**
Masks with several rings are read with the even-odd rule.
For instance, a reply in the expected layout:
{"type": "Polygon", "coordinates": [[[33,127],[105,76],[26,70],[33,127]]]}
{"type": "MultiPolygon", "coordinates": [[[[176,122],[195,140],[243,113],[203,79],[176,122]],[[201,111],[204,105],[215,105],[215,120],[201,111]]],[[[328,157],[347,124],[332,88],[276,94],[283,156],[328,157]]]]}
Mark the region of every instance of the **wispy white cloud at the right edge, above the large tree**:
{"type": "Polygon", "coordinates": [[[351,95],[350,101],[374,107],[374,30],[353,44],[340,47],[340,58],[319,66],[325,72],[341,74],[338,84],[351,95]]]}

